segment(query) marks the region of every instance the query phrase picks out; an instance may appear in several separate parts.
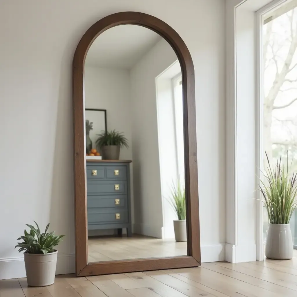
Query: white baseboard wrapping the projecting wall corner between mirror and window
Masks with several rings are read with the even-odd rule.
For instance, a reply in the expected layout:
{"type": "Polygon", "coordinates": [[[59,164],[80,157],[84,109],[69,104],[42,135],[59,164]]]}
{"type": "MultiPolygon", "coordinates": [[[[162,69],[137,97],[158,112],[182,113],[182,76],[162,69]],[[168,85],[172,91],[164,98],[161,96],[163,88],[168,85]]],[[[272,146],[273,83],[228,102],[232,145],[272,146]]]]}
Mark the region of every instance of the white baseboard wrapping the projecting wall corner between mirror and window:
{"type": "Polygon", "coordinates": [[[256,261],[257,246],[256,244],[225,245],[226,261],[230,263],[241,263],[256,261]]]}

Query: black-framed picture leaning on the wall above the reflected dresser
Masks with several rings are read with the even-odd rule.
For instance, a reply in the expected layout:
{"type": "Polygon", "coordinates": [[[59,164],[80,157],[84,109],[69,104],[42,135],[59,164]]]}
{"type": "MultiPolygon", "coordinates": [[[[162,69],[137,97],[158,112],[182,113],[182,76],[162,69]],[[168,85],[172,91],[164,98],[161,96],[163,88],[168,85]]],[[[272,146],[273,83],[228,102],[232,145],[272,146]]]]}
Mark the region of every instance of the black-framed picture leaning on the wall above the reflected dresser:
{"type": "Polygon", "coordinates": [[[91,149],[96,149],[96,140],[98,134],[107,131],[106,109],[90,109],[85,110],[86,119],[86,151],[89,153],[91,149]]]}

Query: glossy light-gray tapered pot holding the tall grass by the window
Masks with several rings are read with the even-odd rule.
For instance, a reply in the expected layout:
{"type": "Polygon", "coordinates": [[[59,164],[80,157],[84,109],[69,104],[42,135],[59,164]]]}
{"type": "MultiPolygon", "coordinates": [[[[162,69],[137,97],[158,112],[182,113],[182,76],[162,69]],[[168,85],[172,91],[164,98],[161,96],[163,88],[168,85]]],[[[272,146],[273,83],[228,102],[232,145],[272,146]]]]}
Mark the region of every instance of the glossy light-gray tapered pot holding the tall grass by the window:
{"type": "Polygon", "coordinates": [[[290,224],[269,224],[265,256],[274,260],[293,258],[293,240],[290,224]]]}

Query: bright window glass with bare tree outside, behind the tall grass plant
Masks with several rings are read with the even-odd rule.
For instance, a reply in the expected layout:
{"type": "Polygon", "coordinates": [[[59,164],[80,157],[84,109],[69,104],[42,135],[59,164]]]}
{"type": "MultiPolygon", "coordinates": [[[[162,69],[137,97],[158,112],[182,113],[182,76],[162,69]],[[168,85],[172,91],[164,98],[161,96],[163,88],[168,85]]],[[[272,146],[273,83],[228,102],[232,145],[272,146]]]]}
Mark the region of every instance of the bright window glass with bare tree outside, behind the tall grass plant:
{"type": "MultiPolygon", "coordinates": [[[[297,170],[297,1],[288,1],[263,18],[263,149],[276,164],[292,160],[297,170]]],[[[263,168],[267,166],[264,158],[263,168]]],[[[291,218],[297,248],[297,212],[291,218]]],[[[268,215],[264,211],[264,242],[268,215]]]]}

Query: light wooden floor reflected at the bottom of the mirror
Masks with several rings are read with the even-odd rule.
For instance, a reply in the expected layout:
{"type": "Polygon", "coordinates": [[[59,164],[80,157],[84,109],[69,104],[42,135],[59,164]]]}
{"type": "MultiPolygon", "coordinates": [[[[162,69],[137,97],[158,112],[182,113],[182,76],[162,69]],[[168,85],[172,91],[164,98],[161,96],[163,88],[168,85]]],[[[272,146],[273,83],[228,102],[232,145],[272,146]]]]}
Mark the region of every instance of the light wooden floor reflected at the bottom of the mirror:
{"type": "Polygon", "coordinates": [[[187,242],[133,234],[88,238],[89,262],[187,255],[187,242]]]}

